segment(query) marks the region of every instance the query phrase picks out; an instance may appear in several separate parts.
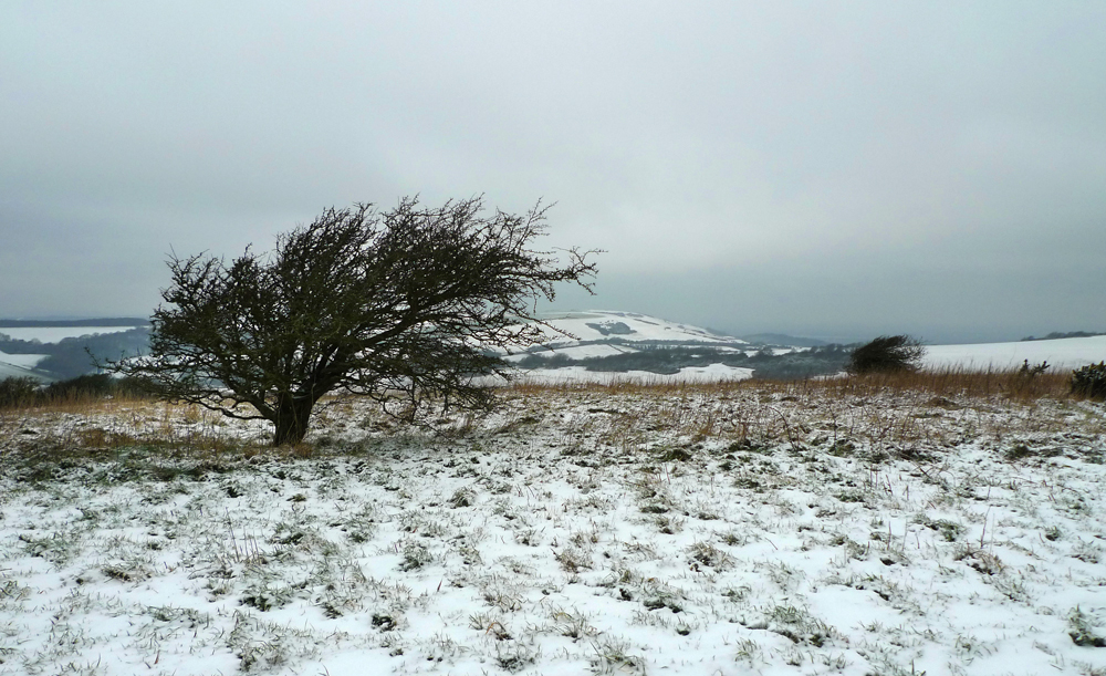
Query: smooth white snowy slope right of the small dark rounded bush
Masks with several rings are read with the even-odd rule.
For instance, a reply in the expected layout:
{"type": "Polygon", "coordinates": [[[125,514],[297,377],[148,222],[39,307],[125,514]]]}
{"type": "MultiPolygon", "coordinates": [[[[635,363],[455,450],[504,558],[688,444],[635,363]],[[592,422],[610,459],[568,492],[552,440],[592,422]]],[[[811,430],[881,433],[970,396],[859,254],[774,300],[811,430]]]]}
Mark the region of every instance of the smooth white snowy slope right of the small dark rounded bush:
{"type": "Polygon", "coordinates": [[[1106,360],[1106,335],[1022,341],[1016,343],[980,343],[974,345],[927,345],[927,368],[959,366],[963,368],[1011,368],[1025,360],[1030,364],[1047,361],[1057,368],[1078,368],[1106,360]]]}

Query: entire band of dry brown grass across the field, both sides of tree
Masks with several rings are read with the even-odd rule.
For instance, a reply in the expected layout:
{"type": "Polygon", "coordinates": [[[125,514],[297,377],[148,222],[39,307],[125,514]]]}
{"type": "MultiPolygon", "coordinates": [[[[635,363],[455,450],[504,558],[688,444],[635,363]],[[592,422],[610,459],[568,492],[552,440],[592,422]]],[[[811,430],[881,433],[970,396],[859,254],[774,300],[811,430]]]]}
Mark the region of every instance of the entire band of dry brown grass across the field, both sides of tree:
{"type": "MultiPolygon", "coordinates": [[[[1018,371],[964,370],[793,382],[522,382],[503,388],[492,417],[503,419],[495,423],[503,433],[540,424],[546,416],[576,416],[560,433],[566,453],[586,445],[586,439],[633,453],[658,434],[677,446],[720,439],[745,447],[785,444],[794,450],[823,447],[834,453],[854,445],[872,454],[979,437],[1005,444],[1011,435],[1054,436],[1076,424],[1086,434],[1106,434],[1106,420],[1086,409],[1091,404],[1074,397],[1067,383],[1057,373],[1026,377],[1018,371]]],[[[428,430],[466,435],[483,425],[480,419],[465,412],[435,413],[426,427],[414,428],[387,419],[371,402],[340,397],[319,407],[307,444],[280,453],[326,456],[356,446],[358,439],[428,430]]],[[[241,457],[262,453],[270,435],[264,424],[152,399],[81,399],[0,410],[0,450],[52,449],[64,455],[146,448],[176,457],[241,457]]]]}

